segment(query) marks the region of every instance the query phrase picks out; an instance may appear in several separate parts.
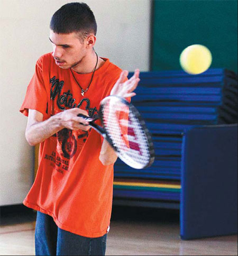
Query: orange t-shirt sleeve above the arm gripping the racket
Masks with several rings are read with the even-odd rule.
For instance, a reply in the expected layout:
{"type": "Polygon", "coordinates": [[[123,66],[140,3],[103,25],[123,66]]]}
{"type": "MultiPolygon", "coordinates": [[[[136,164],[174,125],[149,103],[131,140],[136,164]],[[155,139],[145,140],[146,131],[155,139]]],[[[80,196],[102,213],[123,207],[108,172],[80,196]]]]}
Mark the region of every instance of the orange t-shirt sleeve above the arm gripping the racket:
{"type": "Polygon", "coordinates": [[[41,112],[44,119],[47,118],[48,98],[43,82],[42,61],[39,59],[35,65],[35,72],[26,89],[26,94],[20,112],[28,116],[29,109],[41,112]]]}

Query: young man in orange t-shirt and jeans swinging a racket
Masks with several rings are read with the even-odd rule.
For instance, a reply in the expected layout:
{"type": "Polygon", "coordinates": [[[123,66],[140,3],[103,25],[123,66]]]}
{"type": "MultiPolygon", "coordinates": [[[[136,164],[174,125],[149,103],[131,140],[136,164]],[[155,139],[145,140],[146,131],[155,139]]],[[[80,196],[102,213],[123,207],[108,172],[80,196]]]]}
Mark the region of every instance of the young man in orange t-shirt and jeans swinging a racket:
{"type": "Polygon", "coordinates": [[[24,205],[38,211],[36,255],[104,255],[116,154],[79,113],[94,117],[108,95],[134,96],[139,70],[127,80],[94,51],[97,24],[84,3],[52,16],[53,52],[36,62],[20,111],[26,140],[40,143],[39,168],[24,205]]]}

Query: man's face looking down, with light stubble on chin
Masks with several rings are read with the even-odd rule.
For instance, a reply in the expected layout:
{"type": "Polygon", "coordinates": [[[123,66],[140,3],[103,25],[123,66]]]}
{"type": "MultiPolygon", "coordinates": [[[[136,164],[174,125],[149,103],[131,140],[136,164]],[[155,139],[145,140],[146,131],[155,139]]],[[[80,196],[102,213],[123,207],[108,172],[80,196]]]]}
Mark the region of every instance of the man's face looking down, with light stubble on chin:
{"type": "Polygon", "coordinates": [[[87,53],[86,42],[81,42],[76,33],[57,34],[50,30],[50,41],[56,65],[68,69],[77,67],[87,53]]]}

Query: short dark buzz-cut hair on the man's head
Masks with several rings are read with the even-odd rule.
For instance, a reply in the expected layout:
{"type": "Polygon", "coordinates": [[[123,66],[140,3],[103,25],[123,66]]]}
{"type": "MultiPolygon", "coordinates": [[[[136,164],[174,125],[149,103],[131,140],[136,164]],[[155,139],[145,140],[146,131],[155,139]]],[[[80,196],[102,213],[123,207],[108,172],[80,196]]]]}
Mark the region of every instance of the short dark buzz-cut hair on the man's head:
{"type": "Polygon", "coordinates": [[[84,40],[90,33],[96,35],[97,23],[87,4],[68,3],[53,14],[50,29],[58,34],[79,32],[80,38],[84,40]]]}

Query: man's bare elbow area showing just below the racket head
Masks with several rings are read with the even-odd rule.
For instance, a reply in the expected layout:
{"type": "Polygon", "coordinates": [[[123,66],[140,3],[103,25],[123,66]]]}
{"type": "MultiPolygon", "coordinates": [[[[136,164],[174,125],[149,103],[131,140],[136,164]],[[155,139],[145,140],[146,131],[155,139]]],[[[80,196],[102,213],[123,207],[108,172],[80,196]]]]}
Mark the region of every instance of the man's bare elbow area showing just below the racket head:
{"type": "Polygon", "coordinates": [[[117,155],[111,145],[104,139],[102,148],[100,151],[99,160],[102,162],[104,166],[109,166],[115,163],[117,159],[117,155]]]}

